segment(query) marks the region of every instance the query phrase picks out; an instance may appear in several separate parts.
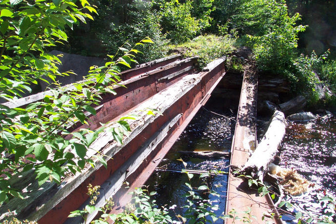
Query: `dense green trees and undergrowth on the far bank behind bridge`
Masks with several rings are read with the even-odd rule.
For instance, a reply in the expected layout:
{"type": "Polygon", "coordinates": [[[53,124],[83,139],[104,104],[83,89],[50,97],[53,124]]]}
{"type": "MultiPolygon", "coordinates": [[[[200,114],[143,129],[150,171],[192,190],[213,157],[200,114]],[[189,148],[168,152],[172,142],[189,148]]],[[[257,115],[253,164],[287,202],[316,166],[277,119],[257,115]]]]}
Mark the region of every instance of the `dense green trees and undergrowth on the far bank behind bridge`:
{"type": "MultiPolygon", "coordinates": [[[[172,52],[186,52],[187,56],[201,54],[203,65],[207,61],[203,58],[213,59],[212,56],[226,55],[234,48],[248,46],[253,49],[262,73],[280,74],[288,78],[293,94],[305,95],[312,107],[323,104],[335,107],[335,97],[331,94],[317,97],[319,94],[315,91],[315,83],[321,81],[335,93],[335,72],[332,69],[335,61],[331,57],[335,56],[336,50],[332,31],[334,15],[331,13],[336,7],[335,2],[287,0],[287,4],[289,9],[285,0],[101,0],[97,1],[98,15],[95,20],[89,21],[87,26],[69,30],[69,42],[63,49],[76,54],[104,56],[117,51],[126,41],[134,44],[149,36],[155,44],[143,49],[145,54],[138,58],[140,62],[172,52]],[[308,12],[315,6],[319,6],[321,11],[315,13],[314,17],[308,12]],[[304,13],[303,16],[297,11],[304,13]],[[314,49],[311,48],[315,46],[312,45],[314,41],[307,41],[307,36],[313,32],[307,23],[315,21],[314,18],[324,11],[326,15],[321,23],[327,24],[329,33],[325,30],[319,36],[319,43],[324,43],[324,47],[314,49]],[[206,34],[218,35],[218,49],[226,46],[220,54],[214,52],[215,48],[207,46],[206,42],[198,48],[201,39],[209,38],[206,34]],[[206,36],[193,40],[199,35],[206,36]],[[196,46],[195,42],[198,42],[196,46]],[[301,48],[298,48],[298,44],[301,48]],[[328,51],[327,47],[331,50],[328,51]],[[202,52],[197,52],[197,49],[202,49],[202,52]],[[313,51],[320,62],[309,59],[313,51]],[[300,56],[301,53],[304,55],[300,56]],[[300,66],[298,61],[310,64],[310,71],[306,71],[307,68],[300,66]]],[[[315,36],[310,36],[315,38],[316,33],[314,30],[315,36]]]]}

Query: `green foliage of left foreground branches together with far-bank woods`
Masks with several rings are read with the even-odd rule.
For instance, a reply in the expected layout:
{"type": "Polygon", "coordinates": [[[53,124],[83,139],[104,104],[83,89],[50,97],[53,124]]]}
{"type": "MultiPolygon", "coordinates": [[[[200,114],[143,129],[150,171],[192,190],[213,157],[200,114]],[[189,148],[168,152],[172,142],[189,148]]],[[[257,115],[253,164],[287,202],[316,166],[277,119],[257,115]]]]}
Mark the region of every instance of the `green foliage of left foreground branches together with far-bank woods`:
{"type": "MultiPolygon", "coordinates": [[[[76,173],[86,163],[105,163],[103,157],[86,156],[102,129],[69,133],[67,126],[85,123],[85,112],[95,114],[92,105],[99,104],[100,94],[113,93],[111,84],[120,80],[120,67],[137,63],[135,56],[144,62],[181,52],[201,56],[203,66],[248,46],[261,74],[286,77],[293,93],[305,95],[311,106],[335,107],[336,61],[329,55],[331,51],[335,56],[336,34],[330,31],[327,39],[321,36],[323,47],[310,44],[309,32],[315,32],[315,25],[305,24],[314,20],[307,11],[320,1],[288,0],[288,11],[284,0],[97,0],[95,5],[87,0],[2,0],[0,98],[5,101],[30,92],[39,80],[48,82],[45,76],[55,81],[57,75],[71,75],[58,71],[59,59],[48,54],[52,49],[111,60],[92,67],[75,90],[52,89],[52,96],[25,109],[0,106],[0,203],[22,197],[8,181],[22,170],[34,168],[40,184],[47,180],[59,183],[66,172],[76,173]],[[303,25],[296,11],[304,13],[303,25]],[[148,42],[152,44],[144,46],[148,42]],[[314,46],[318,46],[315,52],[311,51],[314,46]],[[319,82],[334,95],[320,97],[319,82]],[[69,148],[73,153],[66,152],[69,148]]],[[[326,12],[335,11],[334,1],[321,5],[326,12]]],[[[331,17],[324,24],[332,30],[335,14],[326,14],[331,17]]],[[[127,134],[126,119],[134,118],[121,118],[111,129],[115,141],[121,142],[127,134]]]]}

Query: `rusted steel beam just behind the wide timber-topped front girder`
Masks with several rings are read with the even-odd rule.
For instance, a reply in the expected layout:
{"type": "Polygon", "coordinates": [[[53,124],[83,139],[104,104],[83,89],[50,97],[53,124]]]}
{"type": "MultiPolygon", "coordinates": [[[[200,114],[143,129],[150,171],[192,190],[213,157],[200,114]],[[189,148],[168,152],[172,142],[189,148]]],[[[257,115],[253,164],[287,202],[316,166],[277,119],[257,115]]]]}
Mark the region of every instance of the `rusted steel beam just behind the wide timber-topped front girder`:
{"type": "Polygon", "coordinates": [[[197,62],[196,59],[197,57],[193,57],[175,61],[122,82],[121,84],[125,85],[126,88],[119,87],[114,89],[116,95],[109,93],[102,96],[101,104],[103,107],[97,111],[96,115],[89,117],[89,125],[82,125],[78,122],[76,125],[73,125],[69,131],[78,130],[80,128],[96,129],[101,126],[101,123],[106,123],[120,114],[131,110],[139,103],[149,99],[161,90],[168,88],[185,75],[194,72],[195,63],[197,62]],[[188,69],[185,70],[185,68],[188,69]],[[162,79],[176,72],[180,73],[170,79],[162,79]],[[159,79],[161,80],[159,81],[159,79]]]}

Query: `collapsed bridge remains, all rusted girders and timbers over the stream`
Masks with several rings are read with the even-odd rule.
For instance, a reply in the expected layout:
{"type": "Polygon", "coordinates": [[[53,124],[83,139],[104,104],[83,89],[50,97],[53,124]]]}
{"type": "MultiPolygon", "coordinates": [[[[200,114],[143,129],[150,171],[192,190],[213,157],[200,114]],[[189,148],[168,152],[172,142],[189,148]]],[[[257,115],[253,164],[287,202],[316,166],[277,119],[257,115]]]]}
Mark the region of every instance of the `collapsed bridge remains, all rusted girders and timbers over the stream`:
{"type": "MultiPolygon", "coordinates": [[[[89,204],[87,186],[100,185],[96,206],[101,207],[113,196],[120,207],[130,199],[129,191],[145,183],[150,174],[191,121],[196,112],[206,104],[211,93],[225,75],[225,57],[209,63],[202,72],[195,73],[197,58],[181,59],[169,56],[137,66],[121,74],[121,85],[115,88],[116,95],[105,94],[96,115],[91,115],[88,125],[76,123],[72,131],[80,128],[97,129],[101,123],[117,120],[127,114],[139,118],[129,121],[131,132],[123,139],[123,145],[113,140],[112,133],[103,131],[88,150],[89,157],[97,151],[111,158],[107,168],[99,161],[95,167],[87,166],[81,173],[66,176],[59,185],[46,182],[38,186],[34,170],[22,173],[14,180],[17,188],[27,185],[24,199],[12,198],[0,207],[1,213],[16,211],[17,218],[47,223],[81,223],[81,218],[68,218],[71,211],[83,209],[89,204]],[[148,109],[161,115],[149,114],[148,109]],[[24,180],[24,181],[22,181],[24,180]],[[16,181],[16,182],[15,182],[16,181]],[[130,188],[125,188],[127,181],[130,188]]],[[[248,151],[256,146],[256,94],[257,75],[245,75],[242,84],[236,131],[231,149],[231,164],[243,165],[248,151]],[[249,80],[255,80],[250,82],[249,80]]],[[[72,88],[68,85],[66,88],[72,88]]],[[[10,108],[42,100],[50,92],[42,92],[15,103],[5,103],[10,108]]],[[[273,210],[269,198],[255,196],[255,192],[244,192],[242,180],[229,174],[226,213],[231,208],[250,207],[258,201],[264,207],[254,206],[258,220],[264,210],[273,210]]],[[[224,212],[224,211],[223,211],[224,212]]],[[[87,222],[95,219],[97,213],[89,214],[87,222]]]]}

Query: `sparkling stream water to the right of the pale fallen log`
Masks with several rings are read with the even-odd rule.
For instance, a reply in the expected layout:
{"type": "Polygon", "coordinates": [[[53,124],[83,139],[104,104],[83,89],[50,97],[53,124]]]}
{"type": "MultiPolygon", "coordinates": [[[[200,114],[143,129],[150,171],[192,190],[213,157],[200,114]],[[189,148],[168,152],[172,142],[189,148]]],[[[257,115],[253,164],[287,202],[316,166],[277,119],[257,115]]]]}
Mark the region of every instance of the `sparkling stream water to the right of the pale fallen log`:
{"type": "MultiPolygon", "coordinates": [[[[336,118],[319,118],[310,122],[288,121],[279,165],[293,168],[315,183],[305,194],[285,196],[284,200],[294,205],[290,211],[310,214],[315,218],[333,212],[322,199],[325,196],[336,196],[336,118]]],[[[286,223],[297,223],[290,217],[283,216],[282,219],[286,223]]],[[[335,222],[336,217],[333,219],[335,222]]]]}

